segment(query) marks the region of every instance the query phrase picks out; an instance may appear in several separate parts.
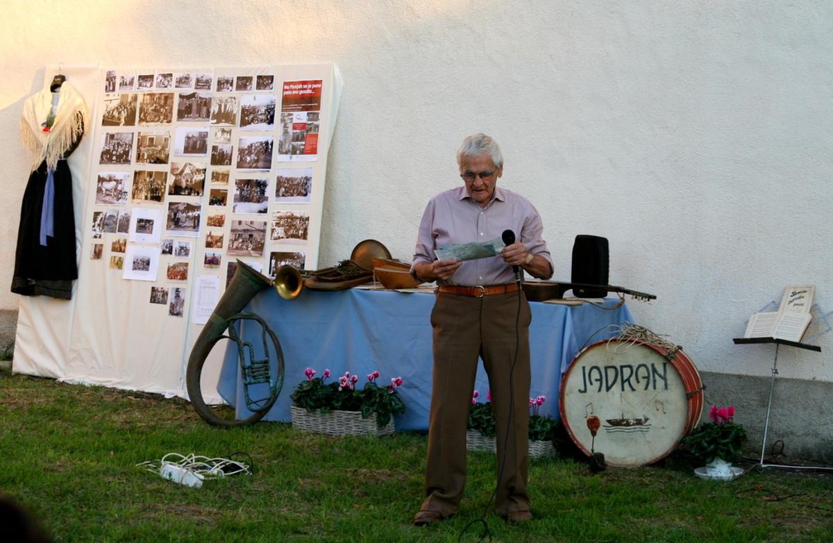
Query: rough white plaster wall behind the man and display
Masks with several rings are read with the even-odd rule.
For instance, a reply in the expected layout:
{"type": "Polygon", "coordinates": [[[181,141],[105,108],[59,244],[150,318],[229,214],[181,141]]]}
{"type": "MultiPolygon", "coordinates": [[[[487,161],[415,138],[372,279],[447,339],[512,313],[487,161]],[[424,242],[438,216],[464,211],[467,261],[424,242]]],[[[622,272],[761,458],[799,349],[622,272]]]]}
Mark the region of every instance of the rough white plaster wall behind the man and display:
{"type": "MultiPolygon", "coordinates": [[[[482,131],[541,212],[555,279],[576,234],[607,237],[611,283],[658,296],[636,321],[701,370],[769,375],[771,346],[731,338],[787,284],[833,311],[828,0],[2,0],[0,27],[0,309],[44,66],[332,62],[320,267],[368,237],[410,259],[482,131]]],[[[782,349],[781,375],[833,381],[833,334],[816,343],[782,349]]]]}

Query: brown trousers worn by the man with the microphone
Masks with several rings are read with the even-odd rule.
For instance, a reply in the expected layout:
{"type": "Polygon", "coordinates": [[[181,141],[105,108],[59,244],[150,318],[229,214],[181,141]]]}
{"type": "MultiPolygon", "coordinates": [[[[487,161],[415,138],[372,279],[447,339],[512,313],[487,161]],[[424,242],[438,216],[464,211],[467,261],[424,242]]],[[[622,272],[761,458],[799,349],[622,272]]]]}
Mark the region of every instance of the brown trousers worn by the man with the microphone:
{"type": "MultiPolygon", "coordinates": [[[[466,425],[478,356],[489,377],[497,429],[495,511],[529,509],[529,324],[523,292],[476,298],[440,293],[431,311],[434,375],[423,511],[449,516],[466,485],[466,425]],[[520,312],[519,312],[520,304],[520,312]],[[513,369],[514,364],[514,369],[513,369]],[[510,398],[514,406],[510,406],[510,398]]],[[[483,395],[485,396],[485,394],[483,395]]]]}

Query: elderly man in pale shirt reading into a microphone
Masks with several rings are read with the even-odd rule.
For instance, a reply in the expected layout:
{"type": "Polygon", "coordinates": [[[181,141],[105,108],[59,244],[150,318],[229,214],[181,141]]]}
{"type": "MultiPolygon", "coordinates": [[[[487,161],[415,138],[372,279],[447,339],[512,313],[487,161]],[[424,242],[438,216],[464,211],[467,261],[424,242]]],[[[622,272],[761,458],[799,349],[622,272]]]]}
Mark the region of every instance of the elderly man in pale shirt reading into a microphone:
{"type": "Polygon", "coordinates": [[[478,357],[489,376],[497,428],[495,511],[507,521],[528,521],[529,324],[531,311],[516,271],[552,276],[535,207],[516,192],[498,188],[503,157],[485,134],[466,137],[457,149],[462,187],[428,202],[411,271],[439,286],[431,326],[434,370],[426,461],[426,499],[416,526],[450,516],[466,484],[466,421],[478,357]],[[488,242],[506,230],[516,242],[500,256],[461,262],[436,260],[438,247],[488,242]]]}

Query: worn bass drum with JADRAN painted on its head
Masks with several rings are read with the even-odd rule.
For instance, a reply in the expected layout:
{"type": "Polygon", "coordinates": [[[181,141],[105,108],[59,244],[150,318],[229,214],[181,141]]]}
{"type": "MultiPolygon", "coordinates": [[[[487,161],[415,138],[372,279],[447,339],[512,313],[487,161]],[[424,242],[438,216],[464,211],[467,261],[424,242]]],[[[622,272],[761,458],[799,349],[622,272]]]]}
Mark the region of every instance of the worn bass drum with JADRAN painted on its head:
{"type": "Polygon", "coordinates": [[[598,341],[561,379],[561,417],[572,441],[610,466],[665,458],[700,420],[703,383],[678,347],[641,340],[598,341]]]}

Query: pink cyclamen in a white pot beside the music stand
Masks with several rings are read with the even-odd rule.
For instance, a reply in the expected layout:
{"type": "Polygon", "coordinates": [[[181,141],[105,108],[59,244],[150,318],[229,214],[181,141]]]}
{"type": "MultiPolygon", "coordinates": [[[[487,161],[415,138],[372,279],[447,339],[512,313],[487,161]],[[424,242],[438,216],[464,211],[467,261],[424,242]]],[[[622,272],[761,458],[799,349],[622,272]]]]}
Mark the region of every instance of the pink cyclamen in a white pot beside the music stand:
{"type": "Polygon", "coordinates": [[[683,440],[691,454],[706,462],[706,468],[698,469],[709,478],[732,479],[735,476],[731,463],[746,441],[746,428],[733,421],[734,416],[735,408],[732,406],[720,409],[711,406],[711,422],[703,422],[683,440]]]}

